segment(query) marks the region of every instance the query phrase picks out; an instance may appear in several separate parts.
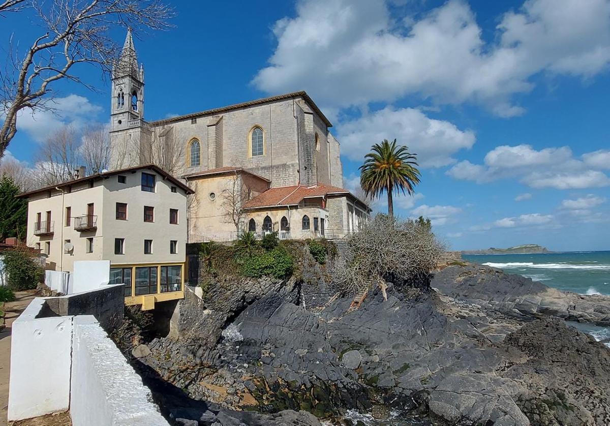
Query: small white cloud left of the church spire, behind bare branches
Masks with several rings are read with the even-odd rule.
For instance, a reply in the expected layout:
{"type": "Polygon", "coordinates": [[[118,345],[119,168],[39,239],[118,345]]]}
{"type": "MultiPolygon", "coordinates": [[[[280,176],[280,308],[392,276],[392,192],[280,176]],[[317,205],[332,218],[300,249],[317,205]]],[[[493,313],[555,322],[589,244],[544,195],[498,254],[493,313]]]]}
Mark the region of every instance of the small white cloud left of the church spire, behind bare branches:
{"type": "Polygon", "coordinates": [[[31,109],[25,108],[18,112],[18,131],[25,131],[32,139],[42,142],[62,126],[71,124],[79,129],[96,121],[96,115],[102,110],[102,107],[91,104],[87,98],[79,95],[49,99],[46,106],[52,110],[32,113],[31,109]]]}

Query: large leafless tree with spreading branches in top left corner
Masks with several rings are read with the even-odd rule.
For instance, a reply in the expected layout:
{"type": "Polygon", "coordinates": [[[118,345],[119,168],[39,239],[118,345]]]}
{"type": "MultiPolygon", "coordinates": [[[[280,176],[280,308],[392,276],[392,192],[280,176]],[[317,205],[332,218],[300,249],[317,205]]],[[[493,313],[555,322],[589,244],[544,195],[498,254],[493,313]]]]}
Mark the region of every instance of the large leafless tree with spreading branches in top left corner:
{"type": "MultiPolygon", "coordinates": [[[[0,0],[1,2],[2,0],[0,0]]],[[[4,0],[0,13],[23,5],[4,0]]],[[[108,74],[117,62],[120,47],[112,38],[114,27],[167,29],[173,10],[159,0],[28,0],[44,34],[27,48],[23,58],[11,49],[5,70],[0,71],[0,157],[17,132],[17,115],[29,108],[52,110],[51,85],[68,79],[86,87],[74,74],[78,63],[91,63],[108,74]]],[[[2,15],[0,15],[2,16],[2,15]]]]}

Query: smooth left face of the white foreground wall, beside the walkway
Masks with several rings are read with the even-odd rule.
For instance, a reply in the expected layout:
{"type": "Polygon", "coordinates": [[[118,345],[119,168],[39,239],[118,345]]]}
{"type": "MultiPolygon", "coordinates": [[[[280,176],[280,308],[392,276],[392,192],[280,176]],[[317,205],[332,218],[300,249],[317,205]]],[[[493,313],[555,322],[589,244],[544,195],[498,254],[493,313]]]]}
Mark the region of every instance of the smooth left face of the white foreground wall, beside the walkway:
{"type": "Polygon", "coordinates": [[[35,298],[13,322],[9,421],[68,410],[72,317],[36,318],[45,300],[35,298]]]}

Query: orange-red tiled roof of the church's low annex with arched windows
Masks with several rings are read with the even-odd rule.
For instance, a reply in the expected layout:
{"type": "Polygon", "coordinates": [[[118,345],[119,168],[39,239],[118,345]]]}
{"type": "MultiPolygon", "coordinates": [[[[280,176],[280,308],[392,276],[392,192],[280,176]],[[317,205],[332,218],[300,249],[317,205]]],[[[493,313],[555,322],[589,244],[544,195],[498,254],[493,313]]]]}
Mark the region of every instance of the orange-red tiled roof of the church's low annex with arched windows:
{"type": "Polygon", "coordinates": [[[268,189],[243,204],[243,208],[259,209],[276,206],[296,206],[305,198],[328,197],[329,195],[346,195],[358,200],[349,190],[337,186],[325,184],[314,186],[293,185],[268,189]]]}

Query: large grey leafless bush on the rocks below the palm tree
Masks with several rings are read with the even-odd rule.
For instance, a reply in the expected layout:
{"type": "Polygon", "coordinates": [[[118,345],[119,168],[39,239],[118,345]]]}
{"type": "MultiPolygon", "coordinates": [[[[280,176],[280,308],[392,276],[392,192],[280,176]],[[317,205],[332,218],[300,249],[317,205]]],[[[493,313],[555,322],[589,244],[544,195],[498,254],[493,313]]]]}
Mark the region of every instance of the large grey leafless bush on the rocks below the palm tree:
{"type": "Polygon", "coordinates": [[[386,282],[422,286],[443,252],[429,228],[378,214],[350,237],[331,281],[348,294],[386,282]]]}

